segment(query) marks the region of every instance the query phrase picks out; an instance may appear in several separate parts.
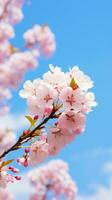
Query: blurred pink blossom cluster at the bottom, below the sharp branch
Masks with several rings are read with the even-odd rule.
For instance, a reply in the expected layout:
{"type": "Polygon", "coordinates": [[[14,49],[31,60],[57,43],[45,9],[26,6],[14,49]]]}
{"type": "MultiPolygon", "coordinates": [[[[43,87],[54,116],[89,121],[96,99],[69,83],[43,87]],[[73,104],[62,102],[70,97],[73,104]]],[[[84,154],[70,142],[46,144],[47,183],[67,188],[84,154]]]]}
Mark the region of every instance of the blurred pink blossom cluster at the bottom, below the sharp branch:
{"type": "Polygon", "coordinates": [[[32,170],[28,174],[35,188],[31,200],[60,199],[74,200],[77,187],[68,173],[68,165],[62,160],[54,160],[32,170]]]}

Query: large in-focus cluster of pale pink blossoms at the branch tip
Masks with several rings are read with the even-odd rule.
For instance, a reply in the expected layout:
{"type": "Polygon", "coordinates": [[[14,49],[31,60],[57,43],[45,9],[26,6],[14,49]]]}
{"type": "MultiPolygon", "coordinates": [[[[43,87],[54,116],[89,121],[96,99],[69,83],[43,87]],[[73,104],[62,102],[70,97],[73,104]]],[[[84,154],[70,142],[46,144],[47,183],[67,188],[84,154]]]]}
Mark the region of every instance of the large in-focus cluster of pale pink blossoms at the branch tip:
{"type": "MultiPolygon", "coordinates": [[[[38,140],[31,143],[29,163],[42,162],[57,154],[85,129],[86,114],[96,106],[91,79],[77,66],[64,73],[50,65],[43,79],[26,81],[20,96],[26,98],[29,112],[38,115],[37,122],[54,119],[53,125],[39,127],[38,140]]],[[[34,133],[33,133],[34,134],[34,133]]],[[[36,133],[33,136],[36,136],[36,133]]]]}

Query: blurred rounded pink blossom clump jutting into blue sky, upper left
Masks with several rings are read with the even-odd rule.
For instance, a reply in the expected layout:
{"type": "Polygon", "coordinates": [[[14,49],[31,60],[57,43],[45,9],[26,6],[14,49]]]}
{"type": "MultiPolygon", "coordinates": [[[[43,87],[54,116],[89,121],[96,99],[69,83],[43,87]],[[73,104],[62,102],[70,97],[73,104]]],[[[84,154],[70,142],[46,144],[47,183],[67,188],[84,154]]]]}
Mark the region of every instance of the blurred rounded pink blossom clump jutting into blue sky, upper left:
{"type": "Polygon", "coordinates": [[[55,36],[47,25],[35,25],[24,33],[24,40],[27,47],[39,46],[46,56],[52,55],[56,49],[55,36]]]}

